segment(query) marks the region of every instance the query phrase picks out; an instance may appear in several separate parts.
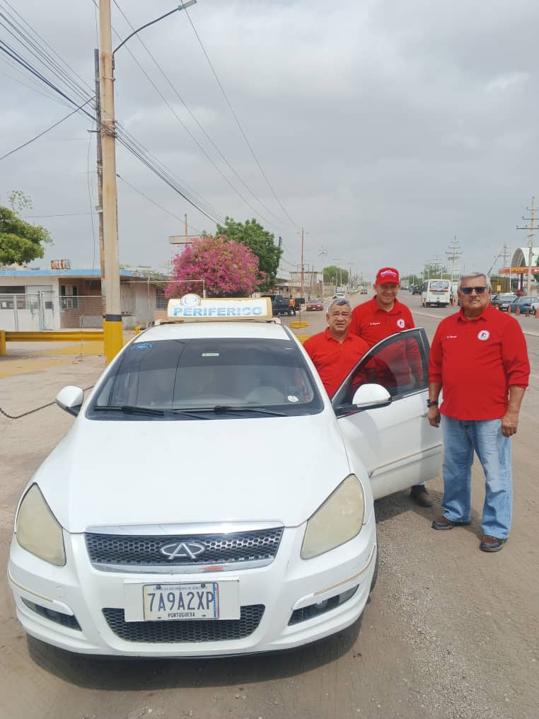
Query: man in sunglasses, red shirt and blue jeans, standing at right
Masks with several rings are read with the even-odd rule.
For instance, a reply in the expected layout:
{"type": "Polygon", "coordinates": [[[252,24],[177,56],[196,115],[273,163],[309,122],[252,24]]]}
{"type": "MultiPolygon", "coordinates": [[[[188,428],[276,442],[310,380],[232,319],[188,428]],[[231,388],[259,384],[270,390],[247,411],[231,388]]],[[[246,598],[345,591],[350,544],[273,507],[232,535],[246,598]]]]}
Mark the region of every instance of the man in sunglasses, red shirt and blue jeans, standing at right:
{"type": "Polygon", "coordinates": [[[441,423],[443,430],[443,516],[433,528],[470,523],[475,452],[485,475],[482,551],[499,551],[509,536],[510,438],[530,375],[520,324],[494,310],[491,291],[486,275],[462,275],[461,310],[441,321],[430,347],[427,402],[428,421],[433,427],[441,423]]]}

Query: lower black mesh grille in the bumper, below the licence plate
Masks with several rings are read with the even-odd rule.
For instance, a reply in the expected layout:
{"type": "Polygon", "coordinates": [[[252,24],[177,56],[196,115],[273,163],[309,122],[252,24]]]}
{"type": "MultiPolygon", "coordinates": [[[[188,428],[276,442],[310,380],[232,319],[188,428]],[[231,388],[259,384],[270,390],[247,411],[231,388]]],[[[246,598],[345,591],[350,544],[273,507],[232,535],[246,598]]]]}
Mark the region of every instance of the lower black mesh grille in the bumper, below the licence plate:
{"type": "Polygon", "coordinates": [[[263,604],[241,607],[239,619],[193,619],[152,622],[126,622],[123,609],[103,609],[111,631],[124,641],[149,644],[182,642],[234,641],[250,636],[264,615],[263,604]]]}

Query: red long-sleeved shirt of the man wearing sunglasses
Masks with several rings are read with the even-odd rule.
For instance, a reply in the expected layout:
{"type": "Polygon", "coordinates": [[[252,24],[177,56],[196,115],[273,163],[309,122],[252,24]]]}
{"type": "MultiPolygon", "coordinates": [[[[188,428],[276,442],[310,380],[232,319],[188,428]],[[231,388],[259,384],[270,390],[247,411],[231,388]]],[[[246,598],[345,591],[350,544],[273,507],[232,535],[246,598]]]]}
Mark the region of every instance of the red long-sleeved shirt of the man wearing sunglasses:
{"type": "Polygon", "coordinates": [[[474,318],[457,312],[438,325],[429,382],[441,382],[440,411],[453,419],[499,419],[511,385],[528,387],[528,347],[518,321],[492,306],[474,318]]]}

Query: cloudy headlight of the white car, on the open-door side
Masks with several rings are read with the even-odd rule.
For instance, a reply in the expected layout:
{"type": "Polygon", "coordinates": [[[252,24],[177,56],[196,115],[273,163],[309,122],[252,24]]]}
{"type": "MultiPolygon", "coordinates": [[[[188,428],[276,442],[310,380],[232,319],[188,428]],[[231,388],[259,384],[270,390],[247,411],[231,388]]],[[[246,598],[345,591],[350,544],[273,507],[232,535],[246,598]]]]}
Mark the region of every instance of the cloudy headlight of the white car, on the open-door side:
{"type": "Polygon", "coordinates": [[[356,475],[349,475],[307,523],[301,558],[318,557],[359,534],[363,526],[365,498],[356,475]]]}

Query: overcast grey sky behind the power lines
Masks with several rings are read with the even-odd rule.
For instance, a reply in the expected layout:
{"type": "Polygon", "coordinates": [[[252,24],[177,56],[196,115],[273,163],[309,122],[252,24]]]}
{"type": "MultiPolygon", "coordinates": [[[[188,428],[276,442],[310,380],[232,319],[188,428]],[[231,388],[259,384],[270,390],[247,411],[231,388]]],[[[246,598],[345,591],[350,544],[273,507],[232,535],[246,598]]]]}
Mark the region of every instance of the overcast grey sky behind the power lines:
{"type": "MultiPolygon", "coordinates": [[[[137,28],[173,6],[113,2],[114,45],[132,32],[122,12],[137,28]]],[[[89,96],[93,0],[0,0],[21,22],[14,7],[89,96]]],[[[539,196],[537,0],[198,0],[188,12],[275,195],[185,12],[145,29],[147,49],[133,37],[119,50],[117,119],[204,206],[282,236],[283,269],[300,262],[302,226],[305,265],[338,258],[366,279],[445,260],[455,235],[465,270],[526,244],[515,228],[539,196]]],[[[0,40],[42,69],[5,27],[0,40]]],[[[0,96],[0,156],[69,111],[3,52],[0,96]]],[[[27,215],[54,238],[34,265],[98,266],[91,129],[75,114],[0,161],[0,201],[28,193],[27,215]]],[[[165,266],[185,213],[190,232],[215,230],[124,147],[117,170],[122,264],[165,266]]]]}

